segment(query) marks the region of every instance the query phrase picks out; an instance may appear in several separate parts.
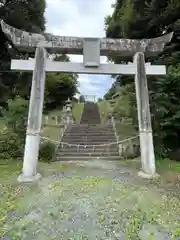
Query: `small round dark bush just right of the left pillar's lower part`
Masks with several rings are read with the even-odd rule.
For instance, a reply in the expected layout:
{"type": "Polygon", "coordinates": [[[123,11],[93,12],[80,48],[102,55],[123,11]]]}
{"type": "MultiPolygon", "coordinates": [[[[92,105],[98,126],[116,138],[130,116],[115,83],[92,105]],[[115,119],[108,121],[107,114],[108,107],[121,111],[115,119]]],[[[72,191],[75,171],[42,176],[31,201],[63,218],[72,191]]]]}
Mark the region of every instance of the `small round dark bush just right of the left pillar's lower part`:
{"type": "Polygon", "coordinates": [[[40,144],[39,158],[42,162],[51,162],[55,154],[56,145],[50,141],[40,144]]]}

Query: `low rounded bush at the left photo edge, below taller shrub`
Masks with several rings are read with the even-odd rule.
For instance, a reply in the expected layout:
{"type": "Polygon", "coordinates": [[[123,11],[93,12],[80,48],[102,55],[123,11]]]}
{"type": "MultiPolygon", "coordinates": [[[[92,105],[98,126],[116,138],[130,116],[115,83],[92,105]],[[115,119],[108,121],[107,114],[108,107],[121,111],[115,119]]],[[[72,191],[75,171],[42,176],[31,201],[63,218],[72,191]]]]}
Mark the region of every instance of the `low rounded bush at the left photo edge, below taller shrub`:
{"type": "Polygon", "coordinates": [[[0,133],[0,161],[22,158],[24,141],[16,133],[5,130],[0,133]]]}

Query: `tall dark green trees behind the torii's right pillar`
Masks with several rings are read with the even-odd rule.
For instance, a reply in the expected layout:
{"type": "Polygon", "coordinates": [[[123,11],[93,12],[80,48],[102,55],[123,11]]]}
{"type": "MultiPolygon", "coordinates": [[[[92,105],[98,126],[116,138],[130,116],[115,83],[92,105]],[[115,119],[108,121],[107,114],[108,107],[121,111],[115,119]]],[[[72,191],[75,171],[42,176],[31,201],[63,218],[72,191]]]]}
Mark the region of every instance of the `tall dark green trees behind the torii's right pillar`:
{"type": "MultiPolygon", "coordinates": [[[[108,16],[105,21],[106,35],[111,38],[153,38],[174,31],[174,37],[165,47],[164,52],[157,57],[147,59],[153,64],[166,64],[168,69],[165,77],[148,78],[155,147],[156,152],[163,155],[176,152],[180,141],[179,12],[179,0],[117,0],[112,16],[108,16]]],[[[111,57],[110,60],[120,63],[130,59],[111,57]]],[[[128,90],[126,95],[132,95],[130,106],[133,106],[135,102],[135,94],[132,94],[135,93],[133,77],[117,76],[115,84],[105,98],[109,99],[119,91],[115,88],[119,82],[121,86],[131,85],[132,91],[128,90]]],[[[136,114],[131,117],[137,122],[136,114]]]]}

